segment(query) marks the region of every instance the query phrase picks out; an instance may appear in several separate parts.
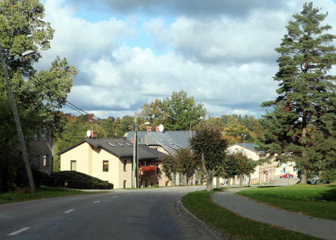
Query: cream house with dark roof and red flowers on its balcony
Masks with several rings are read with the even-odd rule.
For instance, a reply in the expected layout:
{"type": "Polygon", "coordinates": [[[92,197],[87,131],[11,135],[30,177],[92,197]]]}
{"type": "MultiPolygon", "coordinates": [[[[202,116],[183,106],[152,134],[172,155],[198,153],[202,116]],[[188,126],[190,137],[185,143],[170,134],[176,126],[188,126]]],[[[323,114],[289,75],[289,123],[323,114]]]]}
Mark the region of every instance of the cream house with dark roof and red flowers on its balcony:
{"type": "MultiPolygon", "coordinates": [[[[97,177],[113,183],[115,189],[132,187],[133,143],[124,138],[83,139],[57,154],[61,157],[61,171],[78,171],[97,177]]],[[[147,146],[138,145],[138,156],[142,164],[155,166],[163,155],[147,146]]],[[[157,184],[159,172],[157,169],[146,175],[140,172],[141,185],[157,184]]]]}

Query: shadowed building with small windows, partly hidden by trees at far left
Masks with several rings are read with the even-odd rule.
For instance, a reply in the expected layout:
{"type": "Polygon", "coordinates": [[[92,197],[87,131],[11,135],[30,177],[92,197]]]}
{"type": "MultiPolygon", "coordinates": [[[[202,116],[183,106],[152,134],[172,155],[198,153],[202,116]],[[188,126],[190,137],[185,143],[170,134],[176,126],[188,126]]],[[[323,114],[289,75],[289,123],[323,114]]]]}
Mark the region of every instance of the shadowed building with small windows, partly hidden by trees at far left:
{"type": "Polygon", "coordinates": [[[30,142],[33,151],[31,154],[33,165],[47,174],[53,172],[52,141],[50,130],[44,128],[42,134],[37,134],[30,142]]]}

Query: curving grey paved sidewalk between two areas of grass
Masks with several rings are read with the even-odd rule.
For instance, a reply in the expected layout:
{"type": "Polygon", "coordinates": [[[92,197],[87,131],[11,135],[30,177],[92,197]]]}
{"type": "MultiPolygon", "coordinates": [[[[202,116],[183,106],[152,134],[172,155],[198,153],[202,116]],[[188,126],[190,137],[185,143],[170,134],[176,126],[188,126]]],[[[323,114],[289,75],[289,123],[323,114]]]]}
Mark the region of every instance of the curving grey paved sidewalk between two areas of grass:
{"type": "Polygon", "coordinates": [[[284,227],[315,237],[336,239],[336,221],[296,214],[247,200],[236,194],[236,192],[241,190],[235,188],[219,192],[212,195],[212,198],[215,203],[249,219],[284,227]]]}

